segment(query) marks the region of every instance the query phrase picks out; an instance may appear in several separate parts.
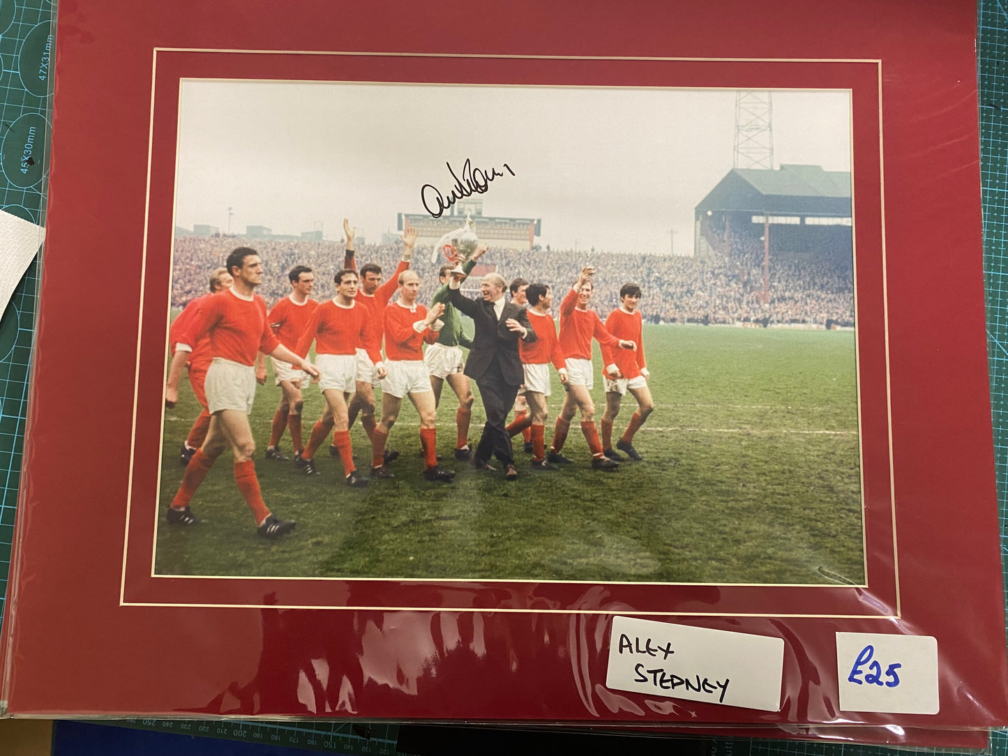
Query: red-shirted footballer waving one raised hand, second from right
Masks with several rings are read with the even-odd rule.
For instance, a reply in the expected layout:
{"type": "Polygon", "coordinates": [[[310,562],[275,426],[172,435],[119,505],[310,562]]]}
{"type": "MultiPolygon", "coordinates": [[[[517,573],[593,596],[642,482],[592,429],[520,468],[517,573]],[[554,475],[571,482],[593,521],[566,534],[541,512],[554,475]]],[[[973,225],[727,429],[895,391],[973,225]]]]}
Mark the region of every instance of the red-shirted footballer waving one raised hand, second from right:
{"type": "Polygon", "coordinates": [[[592,401],[592,387],[595,385],[592,369],[592,339],[603,347],[636,349],[637,346],[624,339],[617,339],[606,331],[599,316],[588,308],[595,288],[592,276],[595,268],[582,268],[578,280],[560,302],[560,351],[566,361],[570,388],[563,397],[563,407],[553,427],[553,443],[546,459],[551,463],[570,465],[571,460],[560,454],[566,440],[571,420],[581,410],[581,430],[592,451],[592,468],[612,472],[619,469],[619,463],[608,459],[602,451],[599,429],[595,425],[595,403],[592,401]]]}

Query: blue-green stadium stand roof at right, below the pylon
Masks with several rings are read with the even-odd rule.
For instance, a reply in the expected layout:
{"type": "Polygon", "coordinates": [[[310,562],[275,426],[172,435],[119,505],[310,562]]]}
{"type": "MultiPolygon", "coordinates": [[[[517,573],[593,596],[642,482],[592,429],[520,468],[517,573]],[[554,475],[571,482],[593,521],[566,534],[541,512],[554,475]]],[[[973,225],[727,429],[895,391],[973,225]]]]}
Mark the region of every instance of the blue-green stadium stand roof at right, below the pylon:
{"type": "Polygon", "coordinates": [[[818,165],[733,168],[697,210],[849,218],[851,174],[818,165]]]}

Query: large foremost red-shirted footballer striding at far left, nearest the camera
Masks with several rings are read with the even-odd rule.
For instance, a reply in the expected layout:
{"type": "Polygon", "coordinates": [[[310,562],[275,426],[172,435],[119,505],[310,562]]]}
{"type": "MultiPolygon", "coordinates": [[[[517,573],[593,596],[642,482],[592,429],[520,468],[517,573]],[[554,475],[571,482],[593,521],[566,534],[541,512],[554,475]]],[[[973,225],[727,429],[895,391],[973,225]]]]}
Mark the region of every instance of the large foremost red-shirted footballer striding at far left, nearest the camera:
{"type": "MultiPolygon", "coordinates": [[[[217,458],[228,447],[234,454],[235,483],[252,514],[256,527],[265,538],[278,538],[294,528],[293,520],[273,515],[262,500],[259,479],[255,474],[255,440],[249,424],[249,412],[255,398],[255,363],[259,352],[298,365],[312,376],[318,369],[280,344],[266,322],[266,302],[255,294],[262,283],[262,262],[254,249],[239,247],[230,255],[226,267],[234,284],[220,295],[206,299],[196,313],[186,334],[179,336],[171,374],[181,373],[188,345],[210,337],[214,361],[207,370],[207,402],[210,428],[203,446],[185,467],[181,485],[168,508],[169,525],[196,525],[199,518],[190,502],[217,458]]],[[[176,379],[177,383],[177,379],[176,379]]],[[[165,401],[175,397],[165,395],[165,401]]]]}

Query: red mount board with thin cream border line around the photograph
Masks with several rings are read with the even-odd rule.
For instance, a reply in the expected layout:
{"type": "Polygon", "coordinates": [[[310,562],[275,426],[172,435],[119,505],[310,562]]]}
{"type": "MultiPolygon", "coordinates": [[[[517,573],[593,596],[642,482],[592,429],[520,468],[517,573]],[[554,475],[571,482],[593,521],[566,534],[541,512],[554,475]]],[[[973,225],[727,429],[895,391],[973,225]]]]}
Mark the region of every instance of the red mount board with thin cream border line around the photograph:
{"type": "Polygon", "coordinates": [[[61,3],[7,711],[1008,723],[975,8],[921,10],[631,3],[616,14],[602,3],[450,2],[434,14],[405,3],[184,0],[127,15],[105,0],[61,3]],[[849,90],[866,583],[155,575],[178,91],[188,79],[849,90]],[[955,317],[937,301],[955,303],[955,317]],[[780,711],[607,689],[614,614],[783,638],[780,711]],[[936,637],[939,713],[842,713],[837,631],[936,637]]]}

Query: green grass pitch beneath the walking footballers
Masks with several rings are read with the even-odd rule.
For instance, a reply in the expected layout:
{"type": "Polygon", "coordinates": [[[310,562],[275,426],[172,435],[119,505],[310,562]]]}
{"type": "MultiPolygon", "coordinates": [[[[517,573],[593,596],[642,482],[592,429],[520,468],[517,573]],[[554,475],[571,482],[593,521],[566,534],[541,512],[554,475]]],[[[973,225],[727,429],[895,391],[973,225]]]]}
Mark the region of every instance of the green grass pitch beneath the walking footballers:
{"type": "MultiPolygon", "coordinates": [[[[520,437],[515,483],[456,463],[457,401],[445,387],[438,452],[455,482],[423,480],[419,422],[403,402],[388,447],[395,480],[350,489],[324,447],[322,475],[263,459],[279,389],[260,387],[251,416],[263,497],[297,529],[255,532],[225,453],[193,501],[206,520],[169,527],[181,480],[178,448],[200,411],[186,387],[164,423],[155,572],[159,575],[428,578],[590,582],[829,584],[864,582],[853,332],[645,326],[655,410],[634,446],[644,456],[615,473],[590,469],[572,423],[576,461],[533,473],[520,437]]],[[[595,364],[601,364],[596,354],[595,364]]],[[[546,444],[563,391],[553,376],[546,444]]],[[[605,393],[596,376],[596,420],[605,393]]],[[[471,443],[484,422],[477,393],[471,443]]],[[[304,391],[305,440],[320,416],[304,391]]],[[[380,399],[379,399],[380,402],[380,399]]],[[[629,394],[614,440],[636,402],[629,394]]],[[[358,466],[370,445],[352,429],[358,466]]],[[[289,435],[281,447],[290,455],[289,435]]],[[[292,455],[291,455],[292,456],[292,455]]],[[[151,513],[153,516],[153,513],[151,513]]]]}

